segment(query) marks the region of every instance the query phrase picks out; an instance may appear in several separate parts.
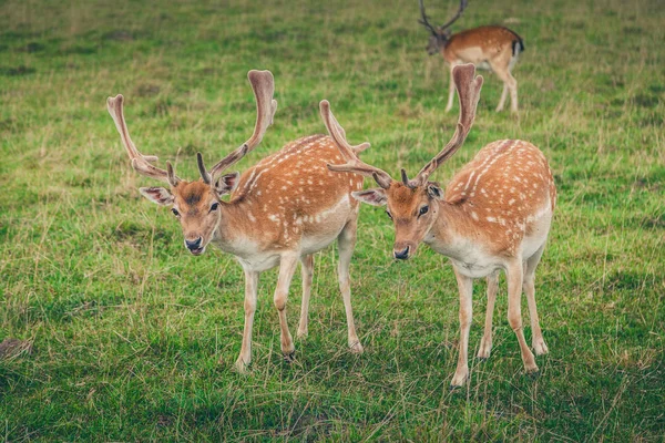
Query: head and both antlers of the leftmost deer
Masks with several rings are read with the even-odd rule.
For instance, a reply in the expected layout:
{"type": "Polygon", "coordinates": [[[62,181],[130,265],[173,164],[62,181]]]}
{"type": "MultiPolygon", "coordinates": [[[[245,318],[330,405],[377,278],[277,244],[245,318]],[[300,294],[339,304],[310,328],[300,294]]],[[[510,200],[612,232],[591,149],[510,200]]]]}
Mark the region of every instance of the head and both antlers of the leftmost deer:
{"type": "Polygon", "coordinates": [[[157,157],[141,154],[130,137],[123,115],[124,97],[116,95],[106,101],[109,113],[115,122],[132,167],[141,175],[168,185],[168,188],[142,187],[139,190],[153,203],[171,206],[171,212],[182,226],[185,247],[193,255],[201,255],[205,251],[215,230],[221,225],[222,209],[228,205],[221,197],[232,193],[238,184],[239,173],[222,174],[260,143],[267,127],[273,124],[273,117],[277,110],[277,102],[273,100],[275,91],[273,74],[269,71],[249,71],[247,78],[256,97],[257,116],[254,134],[209,171],[205,168],[202,154],[197,153],[201,178],[195,182],[178,178],[168,162],[166,162],[166,169],[152,165],[157,157]]]}

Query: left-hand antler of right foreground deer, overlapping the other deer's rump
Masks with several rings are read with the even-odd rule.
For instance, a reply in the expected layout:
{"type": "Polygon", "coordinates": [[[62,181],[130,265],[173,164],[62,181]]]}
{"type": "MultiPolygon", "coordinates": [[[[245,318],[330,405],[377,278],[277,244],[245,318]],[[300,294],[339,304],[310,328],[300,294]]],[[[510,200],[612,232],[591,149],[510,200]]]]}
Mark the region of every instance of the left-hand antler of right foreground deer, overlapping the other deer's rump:
{"type": "Polygon", "coordinates": [[[330,111],[330,103],[328,103],[327,100],[323,100],[319,103],[319,110],[321,113],[321,119],[324,120],[324,124],[328,128],[328,133],[332,137],[332,141],[335,141],[335,144],[339,148],[341,156],[347,161],[347,163],[344,165],[328,164],[328,169],[341,173],[356,173],[365,177],[374,177],[379,186],[381,186],[383,189],[388,189],[390,187],[390,183],[392,182],[390,175],[387,172],[379,169],[376,166],[368,165],[358,158],[358,153],[369,147],[369,143],[351,146],[346,140],[346,133],[344,128],[337,122],[337,119],[335,119],[335,115],[332,115],[332,112],[330,111]]]}

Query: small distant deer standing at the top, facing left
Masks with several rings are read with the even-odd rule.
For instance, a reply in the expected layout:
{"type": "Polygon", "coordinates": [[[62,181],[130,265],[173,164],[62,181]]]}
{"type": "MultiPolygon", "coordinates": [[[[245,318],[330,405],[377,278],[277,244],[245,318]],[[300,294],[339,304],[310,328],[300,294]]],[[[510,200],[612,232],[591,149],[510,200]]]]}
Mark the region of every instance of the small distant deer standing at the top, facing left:
{"type": "Polygon", "coordinates": [[[449,28],[462,16],[468,0],[461,0],[454,17],[441,27],[434,27],[429,22],[424,13],[423,0],[419,0],[419,3],[421,18],[418,22],[431,32],[427,52],[430,55],[440,52],[444,62],[450,66],[446,112],[450,112],[453,103],[452,70],[459,64],[473,63],[478,69],[494,72],[503,82],[503,92],[497,105],[497,112],[503,111],[510,91],[510,109],[512,113],[516,113],[518,81],[511,72],[520,53],[524,51],[522,38],[516,32],[499,25],[479,27],[452,34],[449,28]]]}

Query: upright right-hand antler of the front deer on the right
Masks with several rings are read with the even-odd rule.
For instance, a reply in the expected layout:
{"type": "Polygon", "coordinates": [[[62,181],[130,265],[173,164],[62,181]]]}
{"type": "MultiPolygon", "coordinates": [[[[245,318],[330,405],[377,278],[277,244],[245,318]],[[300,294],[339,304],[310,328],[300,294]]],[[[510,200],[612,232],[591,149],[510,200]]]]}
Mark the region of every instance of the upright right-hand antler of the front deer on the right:
{"type": "MultiPolygon", "coordinates": [[[[409,187],[413,188],[423,185],[429,176],[462,146],[473,125],[473,121],[475,120],[475,107],[478,106],[480,90],[483,82],[482,76],[475,76],[475,66],[469,63],[454,66],[452,70],[452,78],[460,101],[460,117],[454,135],[450,142],[448,142],[446,147],[420,169],[416,178],[408,182],[409,187]]],[[[406,178],[407,176],[405,173],[402,174],[402,179],[406,178]]]]}

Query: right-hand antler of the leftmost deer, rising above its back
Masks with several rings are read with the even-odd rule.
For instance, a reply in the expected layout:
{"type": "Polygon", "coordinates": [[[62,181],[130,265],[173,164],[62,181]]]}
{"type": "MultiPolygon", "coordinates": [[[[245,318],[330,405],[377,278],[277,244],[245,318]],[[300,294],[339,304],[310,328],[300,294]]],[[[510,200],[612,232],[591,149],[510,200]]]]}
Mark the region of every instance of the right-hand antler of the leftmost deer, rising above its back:
{"type": "MultiPolygon", "coordinates": [[[[266,130],[273,124],[275,111],[277,111],[277,101],[273,100],[273,94],[275,92],[275,79],[273,78],[273,73],[270,71],[252,70],[247,73],[247,79],[249,79],[249,83],[252,83],[254,97],[256,99],[256,124],[254,126],[254,134],[252,134],[252,136],[234,152],[212,167],[209,172],[211,181],[214,181],[221,173],[258,146],[266,130]]],[[[200,164],[203,164],[203,159],[200,161],[200,164]]]]}

